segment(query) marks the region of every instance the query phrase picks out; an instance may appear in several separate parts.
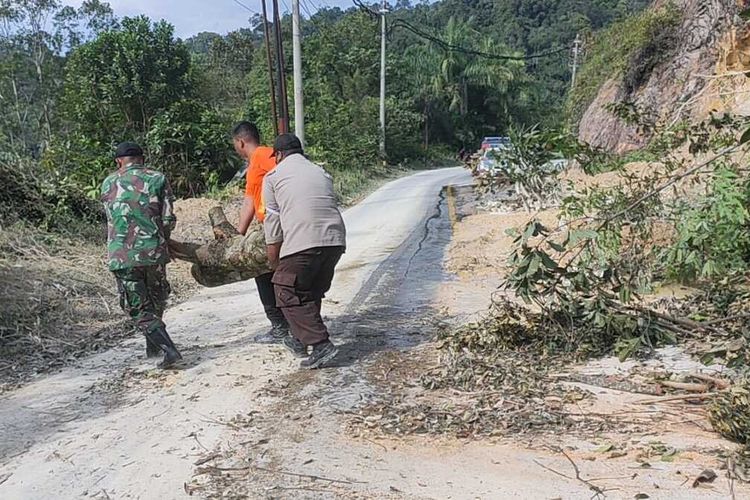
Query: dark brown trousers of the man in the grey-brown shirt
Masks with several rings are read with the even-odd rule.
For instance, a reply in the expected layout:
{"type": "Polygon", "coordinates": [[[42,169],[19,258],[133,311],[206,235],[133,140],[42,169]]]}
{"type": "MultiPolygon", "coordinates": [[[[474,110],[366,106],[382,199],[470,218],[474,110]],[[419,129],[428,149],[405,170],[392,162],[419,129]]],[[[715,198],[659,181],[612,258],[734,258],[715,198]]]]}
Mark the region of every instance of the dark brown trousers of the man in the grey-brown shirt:
{"type": "Polygon", "coordinates": [[[320,247],[288,255],[281,259],[273,275],[276,305],[284,313],[292,335],[304,345],[328,340],[320,307],[343,253],[344,247],[320,247]]]}

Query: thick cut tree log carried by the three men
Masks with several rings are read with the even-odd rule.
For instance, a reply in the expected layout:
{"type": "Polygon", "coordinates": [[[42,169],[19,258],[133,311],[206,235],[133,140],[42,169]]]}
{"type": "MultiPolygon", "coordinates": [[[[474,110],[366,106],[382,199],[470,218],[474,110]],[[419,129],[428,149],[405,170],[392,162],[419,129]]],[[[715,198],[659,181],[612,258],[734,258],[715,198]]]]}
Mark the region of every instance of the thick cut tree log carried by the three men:
{"type": "Polygon", "coordinates": [[[216,287],[245,281],[271,271],[263,227],[254,224],[245,236],[227,220],[221,207],[208,213],[215,241],[200,245],[169,241],[172,257],[193,264],[191,274],[203,286],[216,287]]]}

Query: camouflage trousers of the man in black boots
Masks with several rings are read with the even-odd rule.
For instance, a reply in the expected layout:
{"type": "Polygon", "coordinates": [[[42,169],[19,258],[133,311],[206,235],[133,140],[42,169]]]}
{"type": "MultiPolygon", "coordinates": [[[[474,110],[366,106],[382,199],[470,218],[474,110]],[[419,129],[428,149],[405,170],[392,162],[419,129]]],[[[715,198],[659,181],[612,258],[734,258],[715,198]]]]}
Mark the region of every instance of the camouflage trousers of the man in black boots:
{"type": "Polygon", "coordinates": [[[112,271],[120,294],[120,307],[135,322],[146,339],[171,345],[162,321],[172,289],[167,281],[166,265],[132,267],[112,271]]]}

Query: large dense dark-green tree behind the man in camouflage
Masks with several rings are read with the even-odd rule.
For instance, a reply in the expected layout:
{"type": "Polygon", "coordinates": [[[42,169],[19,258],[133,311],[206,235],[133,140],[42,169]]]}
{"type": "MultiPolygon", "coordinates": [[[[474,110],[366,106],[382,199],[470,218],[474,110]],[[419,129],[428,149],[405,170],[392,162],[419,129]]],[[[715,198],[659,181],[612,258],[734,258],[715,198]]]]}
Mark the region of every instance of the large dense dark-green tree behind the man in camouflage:
{"type": "Polygon", "coordinates": [[[125,18],[76,48],[66,65],[62,100],[70,130],[55,138],[44,164],[96,196],[94,187],[114,167],[113,146],[134,140],[180,195],[205,190],[211,173],[231,178],[230,121],[192,97],[192,71],[173,28],[145,17],[125,18]]]}

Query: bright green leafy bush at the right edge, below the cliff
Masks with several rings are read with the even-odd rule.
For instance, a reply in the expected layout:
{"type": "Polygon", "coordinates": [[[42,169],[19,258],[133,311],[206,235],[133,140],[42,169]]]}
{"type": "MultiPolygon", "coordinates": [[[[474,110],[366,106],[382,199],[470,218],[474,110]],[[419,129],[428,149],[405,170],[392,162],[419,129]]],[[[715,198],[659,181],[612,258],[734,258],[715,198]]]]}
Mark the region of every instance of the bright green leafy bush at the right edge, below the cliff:
{"type": "Polygon", "coordinates": [[[743,271],[750,264],[750,186],[729,165],[713,174],[708,196],[684,210],[667,252],[671,278],[691,282],[743,271]]]}

